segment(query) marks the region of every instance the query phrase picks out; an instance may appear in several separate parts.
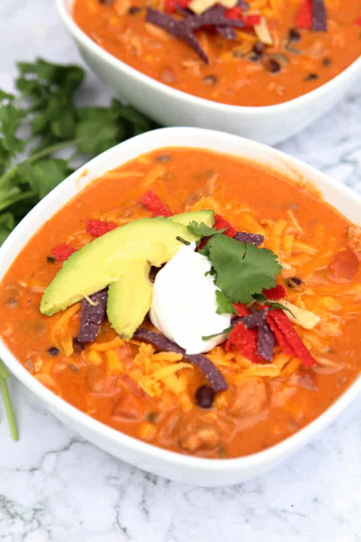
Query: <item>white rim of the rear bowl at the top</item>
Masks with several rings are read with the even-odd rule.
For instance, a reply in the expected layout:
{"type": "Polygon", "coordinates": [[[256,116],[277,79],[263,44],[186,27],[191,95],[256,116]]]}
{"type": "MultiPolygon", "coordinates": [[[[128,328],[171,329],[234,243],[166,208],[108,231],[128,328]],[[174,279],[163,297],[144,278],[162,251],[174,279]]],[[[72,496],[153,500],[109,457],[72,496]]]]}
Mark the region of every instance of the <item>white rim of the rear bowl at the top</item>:
{"type": "Polygon", "coordinates": [[[327,81],[323,85],[313,89],[306,94],[302,94],[297,98],[281,102],[280,104],[267,105],[267,106],[240,106],[240,105],[231,105],[223,104],[222,102],[216,102],[208,100],[206,98],[200,98],[193,94],[187,92],[179,91],[176,88],[165,85],[156,79],[149,77],[146,74],[143,74],[136,68],[129,66],[120,59],[117,59],[111,53],[108,53],[105,49],[100,47],[95,41],[91,38],[77,25],[71,16],[66,2],[71,2],[71,8],[73,8],[75,0],[55,0],[56,8],[58,15],[60,16],[65,28],[68,29],[69,33],[76,39],[76,41],[82,43],[84,47],[90,49],[91,52],[98,57],[98,59],[110,64],[113,68],[121,69],[123,72],[126,72],[127,75],[133,77],[140,83],[146,83],[148,87],[152,87],[154,91],[159,92],[160,94],[164,93],[172,98],[177,98],[181,100],[188,101],[189,104],[194,106],[203,106],[213,109],[214,111],[222,113],[232,113],[235,112],[246,115],[247,117],[254,114],[259,115],[273,115],[274,113],[284,114],[293,109],[297,109],[300,106],[306,106],[307,104],[312,104],[313,100],[322,99],[324,95],[332,93],[333,89],[336,88],[339,84],[349,77],[359,71],[361,73],[361,55],[358,59],[354,60],[350,66],[347,66],[342,72],[334,76],[330,81],[327,81]]]}

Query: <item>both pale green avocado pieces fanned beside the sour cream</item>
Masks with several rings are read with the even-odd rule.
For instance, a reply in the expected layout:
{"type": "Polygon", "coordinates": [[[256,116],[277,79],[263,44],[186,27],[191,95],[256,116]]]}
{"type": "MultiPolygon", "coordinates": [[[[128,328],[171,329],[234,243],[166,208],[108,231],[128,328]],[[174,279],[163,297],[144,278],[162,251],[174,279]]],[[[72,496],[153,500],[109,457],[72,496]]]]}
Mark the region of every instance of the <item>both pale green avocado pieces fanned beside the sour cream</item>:
{"type": "MultiPolygon", "coordinates": [[[[205,216],[202,220],[207,220],[212,225],[213,211],[200,212],[208,212],[208,220],[205,216]]],[[[183,213],[180,217],[184,218],[185,215],[183,213]]],[[[187,223],[194,220],[194,214],[189,215],[193,216],[189,216],[189,220],[186,218],[187,223]]],[[[150,266],[160,267],[176,254],[182,246],[176,237],[182,237],[186,241],[197,240],[185,225],[175,222],[175,216],[172,218],[172,221],[163,218],[141,218],[109,231],[77,250],[63,263],[62,269],[45,289],[41,312],[51,316],[85,296],[121,281],[122,284],[109,291],[109,320],[122,334],[124,317],[118,314],[122,311],[115,308],[121,304],[127,313],[127,320],[141,321],[152,301],[152,285],[148,278],[150,266]],[[135,289],[137,293],[134,292],[135,289]],[[134,314],[133,318],[133,313],[139,315],[134,314]]],[[[128,324],[127,327],[130,329],[132,325],[128,324]]]]}

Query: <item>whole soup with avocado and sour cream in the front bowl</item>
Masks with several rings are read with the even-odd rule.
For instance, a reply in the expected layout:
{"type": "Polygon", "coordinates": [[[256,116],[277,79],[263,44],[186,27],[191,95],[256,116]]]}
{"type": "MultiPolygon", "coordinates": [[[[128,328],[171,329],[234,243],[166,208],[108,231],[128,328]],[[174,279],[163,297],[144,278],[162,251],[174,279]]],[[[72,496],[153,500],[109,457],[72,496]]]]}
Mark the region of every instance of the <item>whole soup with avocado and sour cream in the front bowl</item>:
{"type": "Polygon", "coordinates": [[[143,154],[35,234],[0,332],[39,382],[142,441],[254,453],[359,373],[361,229],[300,178],[201,149],[143,154]]]}

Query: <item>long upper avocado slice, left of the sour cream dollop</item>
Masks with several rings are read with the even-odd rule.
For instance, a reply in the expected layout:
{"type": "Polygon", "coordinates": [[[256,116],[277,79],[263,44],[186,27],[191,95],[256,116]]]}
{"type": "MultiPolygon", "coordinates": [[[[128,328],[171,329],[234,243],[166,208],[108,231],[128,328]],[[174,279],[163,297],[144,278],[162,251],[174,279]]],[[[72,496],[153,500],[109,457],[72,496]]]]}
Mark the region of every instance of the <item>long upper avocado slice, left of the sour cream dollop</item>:
{"type": "MultiPolygon", "coordinates": [[[[63,263],[45,289],[40,311],[51,316],[86,295],[119,281],[124,275],[129,278],[140,261],[160,267],[182,246],[176,240],[178,236],[186,241],[197,239],[184,225],[161,218],[140,218],[109,231],[77,250],[63,263]]],[[[143,286],[144,281],[141,281],[139,287],[143,286]]],[[[109,295],[108,306],[115,302],[112,298],[113,295],[109,295]]],[[[126,311],[137,310],[128,305],[127,299],[117,302],[121,302],[126,311]]]]}

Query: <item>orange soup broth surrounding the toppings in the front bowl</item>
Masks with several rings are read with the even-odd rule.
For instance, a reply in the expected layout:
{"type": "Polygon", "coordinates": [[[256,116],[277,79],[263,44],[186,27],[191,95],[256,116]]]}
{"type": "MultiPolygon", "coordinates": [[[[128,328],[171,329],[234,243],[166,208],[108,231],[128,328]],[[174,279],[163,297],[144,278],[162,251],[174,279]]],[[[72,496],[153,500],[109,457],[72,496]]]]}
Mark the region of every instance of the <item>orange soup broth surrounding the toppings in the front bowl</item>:
{"type": "MultiPolygon", "coordinates": [[[[154,151],[96,179],[35,234],[2,281],[0,332],[35,378],[110,427],[181,453],[204,457],[254,453],[314,420],[359,374],[361,274],[352,280],[336,278],[328,267],[347,247],[349,227],[346,218],[301,181],[294,183],[256,164],[205,150],[154,151]],[[321,317],[312,331],[296,326],[317,366],[303,369],[297,360],[295,364],[276,351],[278,376],[261,376],[262,365],[251,367],[255,377],[245,382],[253,379],[262,385],[265,396],[260,409],[252,409],[248,399],[242,406],[242,398],[234,395],[242,373],[252,364],[232,354],[227,357],[222,347],[209,356],[220,363],[229,389],[218,394],[213,408],[205,410],[194,404],[195,390],[206,383],[198,369],[179,371],[181,393],[161,383],[161,393],[150,397],[132,372],[139,344],[115,343],[115,365],[107,352],[94,354],[93,350],[89,355],[91,345],[65,356],[62,349],[77,335],[80,312],[75,307],[60,334],[54,330],[62,316],[40,313],[42,292],[61,268],[61,263],[47,261],[51,250],[62,243],[78,249],[90,242],[92,237],[86,232],[90,218],[123,225],[149,217],[139,203],[148,189],[174,213],[214,209],[238,230],[264,234],[265,246],[290,267],[283,270],[281,281],[286,286],[293,276],[302,281],[297,287],[287,287],[287,299],[321,317]],[[51,356],[48,349],[56,345],[60,353],[51,356]],[[189,435],[199,427],[216,431],[216,445],[197,448],[193,441],[188,443],[189,435]]],[[[105,322],[96,345],[116,337],[105,322]]],[[[135,369],[143,370],[141,362],[135,369]]]]}

